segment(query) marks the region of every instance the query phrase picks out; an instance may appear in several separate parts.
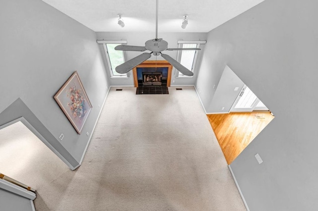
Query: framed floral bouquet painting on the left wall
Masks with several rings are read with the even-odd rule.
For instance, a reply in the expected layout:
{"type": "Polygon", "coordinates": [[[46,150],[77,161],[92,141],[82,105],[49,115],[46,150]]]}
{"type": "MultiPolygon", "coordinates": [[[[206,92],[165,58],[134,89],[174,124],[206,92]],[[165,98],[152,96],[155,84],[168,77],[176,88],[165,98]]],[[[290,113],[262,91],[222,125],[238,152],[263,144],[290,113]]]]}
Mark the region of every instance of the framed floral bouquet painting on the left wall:
{"type": "Polygon", "coordinates": [[[77,71],[65,82],[54,99],[80,134],[92,106],[77,71]]]}

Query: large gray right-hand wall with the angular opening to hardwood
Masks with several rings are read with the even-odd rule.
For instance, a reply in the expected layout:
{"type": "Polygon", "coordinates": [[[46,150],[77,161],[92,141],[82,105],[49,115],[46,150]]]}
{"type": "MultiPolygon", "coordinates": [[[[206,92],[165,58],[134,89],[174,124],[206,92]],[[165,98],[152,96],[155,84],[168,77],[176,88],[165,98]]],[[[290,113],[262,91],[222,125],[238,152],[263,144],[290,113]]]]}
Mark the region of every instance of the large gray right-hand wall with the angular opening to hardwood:
{"type": "Polygon", "coordinates": [[[229,64],[275,114],[231,164],[251,211],[318,209],[317,8],[265,0],[208,35],[197,80],[204,105],[229,64]]]}

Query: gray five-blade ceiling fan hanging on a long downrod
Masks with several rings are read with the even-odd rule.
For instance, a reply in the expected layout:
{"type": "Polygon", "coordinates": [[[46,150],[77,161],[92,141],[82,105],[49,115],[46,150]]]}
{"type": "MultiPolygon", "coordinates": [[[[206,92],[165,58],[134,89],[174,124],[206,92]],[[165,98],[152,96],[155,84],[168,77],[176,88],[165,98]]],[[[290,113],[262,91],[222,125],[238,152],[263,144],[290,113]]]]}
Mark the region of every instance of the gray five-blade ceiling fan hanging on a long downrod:
{"type": "Polygon", "coordinates": [[[193,72],[187,69],[185,66],[177,62],[171,56],[167,54],[161,53],[162,51],[197,51],[201,50],[198,48],[175,48],[168,49],[168,43],[161,38],[158,39],[158,0],[156,0],[156,38],[153,40],[148,40],[145,43],[145,47],[143,46],[128,46],[128,45],[119,45],[115,47],[117,51],[135,51],[135,52],[144,52],[146,50],[151,51],[151,53],[142,53],[120,65],[118,65],[115,69],[116,72],[124,74],[146,61],[151,57],[151,54],[158,56],[161,55],[165,60],[167,60],[172,66],[174,66],[179,72],[186,76],[192,76],[193,72]]]}

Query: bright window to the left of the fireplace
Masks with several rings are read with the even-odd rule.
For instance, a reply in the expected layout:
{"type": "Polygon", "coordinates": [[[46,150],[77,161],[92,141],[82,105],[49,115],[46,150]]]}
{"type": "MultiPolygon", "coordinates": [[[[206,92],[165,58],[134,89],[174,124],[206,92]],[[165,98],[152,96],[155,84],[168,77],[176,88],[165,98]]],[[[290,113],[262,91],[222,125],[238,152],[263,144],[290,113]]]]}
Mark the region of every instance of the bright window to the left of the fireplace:
{"type": "Polygon", "coordinates": [[[103,44],[108,69],[111,78],[128,78],[128,73],[120,74],[116,72],[116,67],[126,61],[127,55],[124,51],[116,51],[115,47],[122,44],[127,44],[127,41],[104,41],[98,40],[97,43],[103,44]]]}

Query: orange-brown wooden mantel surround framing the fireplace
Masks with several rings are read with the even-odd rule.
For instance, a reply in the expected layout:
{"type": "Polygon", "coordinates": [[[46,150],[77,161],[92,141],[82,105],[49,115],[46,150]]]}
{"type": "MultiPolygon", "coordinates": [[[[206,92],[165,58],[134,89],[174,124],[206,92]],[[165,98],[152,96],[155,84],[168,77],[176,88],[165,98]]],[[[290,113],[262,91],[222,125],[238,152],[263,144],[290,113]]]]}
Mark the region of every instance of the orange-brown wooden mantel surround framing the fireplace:
{"type": "MultiPolygon", "coordinates": [[[[137,67],[167,67],[168,68],[167,87],[170,86],[172,65],[168,61],[166,61],[166,60],[157,60],[157,61],[156,60],[147,60],[147,61],[144,61],[143,63],[139,64],[137,67]]],[[[135,87],[138,87],[137,67],[133,68],[135,87]]]]}

